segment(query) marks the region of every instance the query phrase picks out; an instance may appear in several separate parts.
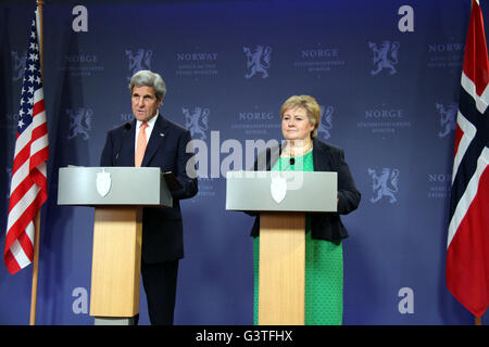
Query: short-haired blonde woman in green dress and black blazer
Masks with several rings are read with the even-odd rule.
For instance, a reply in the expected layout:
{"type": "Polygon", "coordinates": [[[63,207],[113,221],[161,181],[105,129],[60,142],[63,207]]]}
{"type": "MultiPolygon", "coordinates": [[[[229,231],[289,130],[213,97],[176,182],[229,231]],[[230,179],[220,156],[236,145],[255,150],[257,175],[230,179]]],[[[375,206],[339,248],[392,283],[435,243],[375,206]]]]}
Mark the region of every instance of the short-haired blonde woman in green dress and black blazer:
{"type": "MultiPolygon", "coordinates": [[[[255,162],[255,170],[303,170],[338,172],[338,211],[305,216],[305,324],[340,325],[343,316],[343,249],[348,232],[339,215],[356,209],[356,190],[343,150],[316,139],[321,107],[310,95],[293,95],[280,108],[284,144],[267,149],[255,162]],[[278,155],[274,155],[274,153],[278,155]],[[274,157],[275,156],[275,157],[274,157]],[[278,156],[278,157],[277,157],[278,156]],[[259,167],[264,163],[265,167],[259,167]]],[[[258,324],[260,216],[251,231],[253,240],[254,309],[258,324]]]]}

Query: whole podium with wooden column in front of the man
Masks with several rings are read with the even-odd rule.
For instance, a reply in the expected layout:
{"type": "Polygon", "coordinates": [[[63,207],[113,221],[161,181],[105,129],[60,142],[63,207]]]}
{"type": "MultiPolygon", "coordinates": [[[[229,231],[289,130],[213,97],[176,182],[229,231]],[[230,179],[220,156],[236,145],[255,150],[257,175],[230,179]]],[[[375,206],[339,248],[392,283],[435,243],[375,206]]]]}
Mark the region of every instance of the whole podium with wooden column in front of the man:
{"type": "Polygon", "coordinates": [[[172,207],[155,167],[60,168],[58,204],[95,207],[90,316],[130,324],[139,313],[142,207],[172,207]]]}

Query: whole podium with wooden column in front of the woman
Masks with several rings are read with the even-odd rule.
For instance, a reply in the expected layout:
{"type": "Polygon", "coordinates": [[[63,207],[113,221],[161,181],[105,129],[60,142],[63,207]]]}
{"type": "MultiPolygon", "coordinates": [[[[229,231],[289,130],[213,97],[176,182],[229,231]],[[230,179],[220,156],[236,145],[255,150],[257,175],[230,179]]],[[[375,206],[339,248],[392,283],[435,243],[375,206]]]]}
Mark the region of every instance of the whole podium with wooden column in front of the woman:
{"type": "Polygon", "coordinates": [[[260,213],[260,325],[304,324],[305,213],[336,211],[337,191],[337,172],[227,172],[226,209],[260,213]]]}

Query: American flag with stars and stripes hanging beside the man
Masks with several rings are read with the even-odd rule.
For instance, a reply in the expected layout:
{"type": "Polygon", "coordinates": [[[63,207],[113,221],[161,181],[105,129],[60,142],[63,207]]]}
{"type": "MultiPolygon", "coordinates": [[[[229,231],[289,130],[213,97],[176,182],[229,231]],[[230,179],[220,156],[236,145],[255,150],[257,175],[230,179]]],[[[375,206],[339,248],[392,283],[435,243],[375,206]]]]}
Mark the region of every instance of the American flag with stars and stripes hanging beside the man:
{"type": "Polygon", "coordinates": [[[12,274],[33,261],[34,220],[48,197],[48,126],[36,23],[28,40],[10,189],[4,260],[12,274]]]}

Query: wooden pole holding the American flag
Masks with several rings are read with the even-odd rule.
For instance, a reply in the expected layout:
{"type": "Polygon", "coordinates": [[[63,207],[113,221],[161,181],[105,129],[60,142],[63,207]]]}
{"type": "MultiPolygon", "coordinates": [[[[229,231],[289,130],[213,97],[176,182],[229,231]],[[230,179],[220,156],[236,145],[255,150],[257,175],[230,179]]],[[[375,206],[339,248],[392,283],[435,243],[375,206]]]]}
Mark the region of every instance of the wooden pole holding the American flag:
{"type": "MultiPolygon", "coordinates": [[[[42,0],[37,0],[37,11],[39,18],[39,63],[40,63],[40,73],[42,78],[42,0]]],[[[36,324],[36,307],[37,307],[37,282],[39,278],[39,243],[40,243],[40,208],[36,214],[36,219],[34,222],[34,259],[33,259],[33,288],[30,292],[30,319],[29,325],[36,324]]]]}

